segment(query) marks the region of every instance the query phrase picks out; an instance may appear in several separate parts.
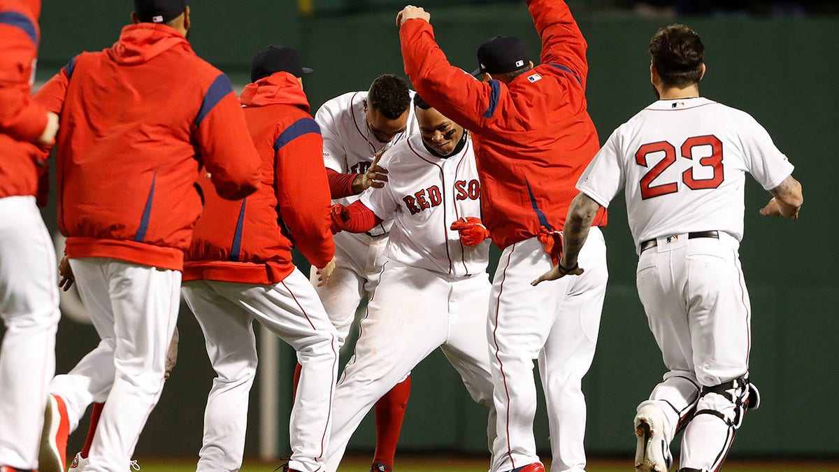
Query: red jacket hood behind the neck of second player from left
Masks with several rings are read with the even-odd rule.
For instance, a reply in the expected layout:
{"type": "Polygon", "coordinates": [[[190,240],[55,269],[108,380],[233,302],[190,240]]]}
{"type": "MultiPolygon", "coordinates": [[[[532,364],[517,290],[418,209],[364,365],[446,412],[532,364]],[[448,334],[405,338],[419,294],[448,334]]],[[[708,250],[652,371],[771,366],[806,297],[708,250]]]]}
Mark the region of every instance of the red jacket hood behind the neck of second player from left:
{"type": "Polygon", "coordinates": [[[108,50],[108,54],[117,64],[132,66],[143,64],[174,47],[192,52],[189,41],[178,30],[165,24],[138,23],[122,29],[119,40],[108,50]]]}

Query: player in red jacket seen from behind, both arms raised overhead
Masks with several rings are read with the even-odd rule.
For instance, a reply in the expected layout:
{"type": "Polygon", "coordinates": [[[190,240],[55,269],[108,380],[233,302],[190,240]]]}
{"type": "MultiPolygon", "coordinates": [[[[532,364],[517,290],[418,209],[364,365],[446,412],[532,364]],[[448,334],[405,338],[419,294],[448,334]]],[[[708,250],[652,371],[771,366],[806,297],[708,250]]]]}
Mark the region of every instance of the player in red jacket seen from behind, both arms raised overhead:
{"type": "Polygon", "coordinates": [[[490,300],[488,333],[498,437],[493,471],[540,472],[533,420],[534,359],[545,389],[551,469],[586,466],[583,375],[591,366],[606,290],[606,244],[593,221],[580,254],[586,273],[560,286],[533,287],[550,269],[574,184],[599,149],[586,111],[586,40],[559,0],[529,0],[542,39],[534,67],[524,43],[496,36],[477,50],[483,81],[451,66],[436,45],[430,15],[409,6],[397,17],[405,72],[432,107],[472,132],[482,218],[503,249],[490,300]]]}

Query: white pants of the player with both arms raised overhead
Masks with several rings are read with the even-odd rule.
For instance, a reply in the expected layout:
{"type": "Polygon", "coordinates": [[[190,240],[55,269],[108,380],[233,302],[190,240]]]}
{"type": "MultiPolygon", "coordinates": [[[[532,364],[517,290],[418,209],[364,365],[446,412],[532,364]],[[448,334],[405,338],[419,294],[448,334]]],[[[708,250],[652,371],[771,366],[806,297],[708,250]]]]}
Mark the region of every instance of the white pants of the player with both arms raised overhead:
{"type": "Polygon", "coordinates": [[[498,412],[492,472],[539,462],[533,433],[537,358],[550,427],[550,469],[586,467],[586,399],[581,382],[594,358],[608,279],[600,228],[591,228],[579,264],[585,269],[582,275],[534,287],[530,283],[552,266],[538,239],[508,246],[498,261],[487,323],[498,412]]]}

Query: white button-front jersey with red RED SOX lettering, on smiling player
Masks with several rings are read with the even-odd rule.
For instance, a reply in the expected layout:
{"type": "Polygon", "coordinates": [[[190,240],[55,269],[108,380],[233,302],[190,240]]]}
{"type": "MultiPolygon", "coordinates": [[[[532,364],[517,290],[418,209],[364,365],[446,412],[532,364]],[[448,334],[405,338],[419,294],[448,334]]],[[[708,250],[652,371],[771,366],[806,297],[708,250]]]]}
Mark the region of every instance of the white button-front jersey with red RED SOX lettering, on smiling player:
{"type": "Polygon", "coordinates": [[[441,158],[425,149],[417,133],[379,162],[388,169],[388,185],[367,189],[361,202],[378,218],[393,218],[388,260],[452,276],[485,272],[489,239],[470,248],[450,229],[459,218],[481,216],[472,140],[456,155],[441,158]]]}

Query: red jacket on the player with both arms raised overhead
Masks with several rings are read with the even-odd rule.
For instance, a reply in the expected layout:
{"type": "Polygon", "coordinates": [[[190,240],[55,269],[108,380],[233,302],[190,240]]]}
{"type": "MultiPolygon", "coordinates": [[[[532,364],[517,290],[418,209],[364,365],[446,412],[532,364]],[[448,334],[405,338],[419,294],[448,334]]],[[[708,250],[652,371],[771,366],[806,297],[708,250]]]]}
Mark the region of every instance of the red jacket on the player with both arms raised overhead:
{"type": "MultiPolygon", "coordinates": [[[[564,2],[528,4],[542,64],[507,84],[451,66],[425,20],[409,19],[399,31],[417,92],[472,131],[482,220],[501,248],[561,230],[576,182],[600,149],[586,110],[586,40],[564,2]]],[[[594,221],[605,225],[605,210],[594,221]]]]}

